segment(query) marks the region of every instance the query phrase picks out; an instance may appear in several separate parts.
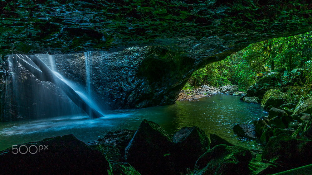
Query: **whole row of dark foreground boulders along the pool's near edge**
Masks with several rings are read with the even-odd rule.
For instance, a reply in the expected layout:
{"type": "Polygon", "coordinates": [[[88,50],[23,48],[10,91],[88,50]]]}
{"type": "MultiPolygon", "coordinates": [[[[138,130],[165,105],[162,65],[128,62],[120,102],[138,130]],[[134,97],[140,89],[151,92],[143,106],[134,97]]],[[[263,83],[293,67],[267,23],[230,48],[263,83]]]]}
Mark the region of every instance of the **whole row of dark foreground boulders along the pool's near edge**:
{"type": "Polygon", "coordinates": [[[146,120],[136,131],[109,132],[88,144],[73,135],[64,135],[22,145],[28,148],[49,145],[49,149],[36,154],[13,154],[12,148],[3,150],[1,173],[268,174],[279,171],[275,163],[257,161],[251,150],[215,134],[208,136],[197,126],[183,127],[171,137],[159,125],[146,120]]]}

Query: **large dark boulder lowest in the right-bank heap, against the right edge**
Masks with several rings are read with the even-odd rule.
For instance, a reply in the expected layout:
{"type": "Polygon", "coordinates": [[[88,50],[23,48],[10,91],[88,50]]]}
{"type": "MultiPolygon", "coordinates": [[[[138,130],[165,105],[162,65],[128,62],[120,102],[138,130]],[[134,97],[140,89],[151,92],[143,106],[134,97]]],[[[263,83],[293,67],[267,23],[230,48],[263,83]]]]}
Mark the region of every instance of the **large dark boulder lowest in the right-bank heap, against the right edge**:
{"type": "Polygon", "coordinates": [[[311,140],[272,137],[261,158],[281,165],[283,170],[297,168],[312,163],[311,146],[311,140]]]}

